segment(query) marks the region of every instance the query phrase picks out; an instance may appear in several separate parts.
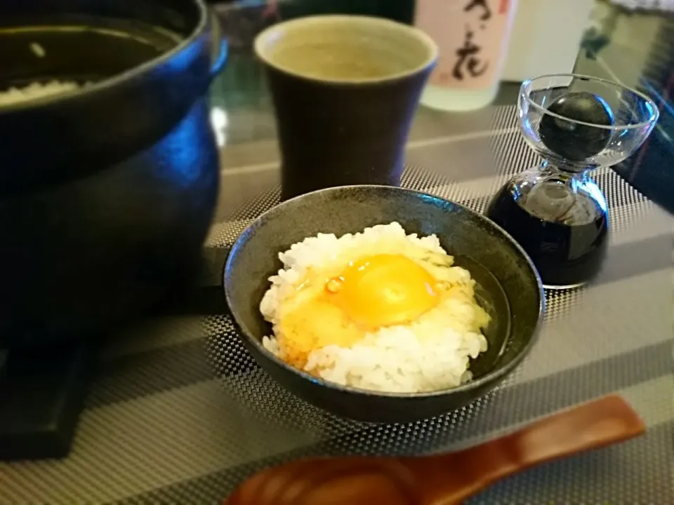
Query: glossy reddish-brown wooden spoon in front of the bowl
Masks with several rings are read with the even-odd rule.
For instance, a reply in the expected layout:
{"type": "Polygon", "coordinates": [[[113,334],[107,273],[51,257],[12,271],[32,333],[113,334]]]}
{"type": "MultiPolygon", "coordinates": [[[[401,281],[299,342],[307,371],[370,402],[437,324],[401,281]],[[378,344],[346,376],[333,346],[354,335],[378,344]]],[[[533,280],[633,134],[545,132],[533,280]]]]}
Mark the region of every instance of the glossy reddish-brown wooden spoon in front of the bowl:
{"type": "Polygon", "coordinates": [[[263,470],[224,505],[456,505],[536,464],[640,435],[644,424],[607,396],[451,454],[304,459],[263,470]]]}

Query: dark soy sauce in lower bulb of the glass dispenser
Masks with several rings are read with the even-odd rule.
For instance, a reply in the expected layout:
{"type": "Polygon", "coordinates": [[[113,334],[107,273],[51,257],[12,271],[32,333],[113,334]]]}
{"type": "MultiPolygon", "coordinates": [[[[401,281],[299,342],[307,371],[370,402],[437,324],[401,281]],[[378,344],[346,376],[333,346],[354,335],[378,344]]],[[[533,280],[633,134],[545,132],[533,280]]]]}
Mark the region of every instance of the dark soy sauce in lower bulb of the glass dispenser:
{"type": "Polygon", "coordinates": [[[579,192],[566,215],[546,215],[533,198],[505,184],[487,216],[527,251],[549,288],[582,285],[600,271],[608,245],[608,218],[592,196],[579,192]]]}

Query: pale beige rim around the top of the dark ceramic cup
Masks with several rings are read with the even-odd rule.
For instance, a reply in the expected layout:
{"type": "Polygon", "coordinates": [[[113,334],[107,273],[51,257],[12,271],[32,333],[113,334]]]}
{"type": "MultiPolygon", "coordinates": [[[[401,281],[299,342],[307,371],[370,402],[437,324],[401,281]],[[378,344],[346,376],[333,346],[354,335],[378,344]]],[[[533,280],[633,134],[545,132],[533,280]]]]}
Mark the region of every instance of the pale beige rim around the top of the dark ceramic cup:
{"type": "Polygon", "coordinates": [[[405,77],[413,76],[419,72],[423,72],[424,69],[433,65],[440,54],[440,50],[437,47],[437,44],[433,39],[428,36],[423,30],[418,29],[417,27],[411,25],[404,25],[401,22],[392,21],[386,18],[376,18],[374,16],[368,15],[343,15],[343,14],[329,14],[329,15],[310,15],[303,18],[282,21],[275,25],[272,25],[268,28],[265,28],[260,32],[253,43],[253,50],[255,51],[256,56],[269,67],[276,69],[279,72],[284,74],[289,74],[291,76],[296,76],[300,79],[305,79],[308,81],[316,81],[322,83],[332,83],[338,85],[354,85],[354,84],[371,84],[371,83],[382,83],[388,81],[396,81],[403,79],[405,77]],[[385,76],[377,77],[359,77],[355,79],[322,79],[321,77],[311,76],[303,74],[302,72],[296,72],[295,70],[286,67],[284,65],[278,65],[272,60],[268,55],[265,55],[265,43],[270,39],[276,36],[281,30],[288,30],[297,27],[311,26],[311,25],[326,25],[329,23],[357,23],[359,25],[369,26],[369,27],[390,27],[397,30],[400,34],[407,34],[416,37],[416,39],[421,42],[423,45],[428,48],[429,55],[421,64],[416,67],[404,70],[403,72],[397,72],[388,74],[385,76]]]}

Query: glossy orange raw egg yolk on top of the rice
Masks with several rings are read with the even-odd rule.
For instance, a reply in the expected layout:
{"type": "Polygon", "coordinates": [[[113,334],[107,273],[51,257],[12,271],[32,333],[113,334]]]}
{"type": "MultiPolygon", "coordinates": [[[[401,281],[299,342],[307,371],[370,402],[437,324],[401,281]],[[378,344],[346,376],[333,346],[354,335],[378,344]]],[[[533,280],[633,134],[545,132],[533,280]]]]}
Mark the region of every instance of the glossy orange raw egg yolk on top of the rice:
{"type": "Polygon", "coordinates": [[[331,303],[368,328],[408,323],[440,301],[435,278],[402,255],[373,255],[352,262],[326,282],[331,303]]]}

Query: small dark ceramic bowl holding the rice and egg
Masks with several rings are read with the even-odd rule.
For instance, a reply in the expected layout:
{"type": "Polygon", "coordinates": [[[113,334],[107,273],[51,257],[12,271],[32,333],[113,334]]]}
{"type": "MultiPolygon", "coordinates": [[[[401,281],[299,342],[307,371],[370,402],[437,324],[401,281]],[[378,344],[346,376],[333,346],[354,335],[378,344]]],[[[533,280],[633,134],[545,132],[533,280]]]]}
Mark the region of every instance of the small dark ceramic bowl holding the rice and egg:
{"type": "Polygon", "coordinates": [[[536,341],[545,298],[534,265],[508,234],[480,214],[436,196],[385,186],[349,186],[298,196],[258,217],[239,236],[225,266],[225,292],[244,344],[259,365],[300,398],[335,415],[366,422],[409,422],[444,414],[501,382],[536,341]],[[456,264],[478,284],[491,315],[489,350],[470,365],[472,381],[430,393],[379,393],[322,381],[286,365],[261,339],[271,328],[260,314],[278,253],[320,233],[341,236],[397,221],[407,233],[436,234],[456,264]]]}

